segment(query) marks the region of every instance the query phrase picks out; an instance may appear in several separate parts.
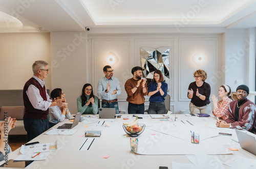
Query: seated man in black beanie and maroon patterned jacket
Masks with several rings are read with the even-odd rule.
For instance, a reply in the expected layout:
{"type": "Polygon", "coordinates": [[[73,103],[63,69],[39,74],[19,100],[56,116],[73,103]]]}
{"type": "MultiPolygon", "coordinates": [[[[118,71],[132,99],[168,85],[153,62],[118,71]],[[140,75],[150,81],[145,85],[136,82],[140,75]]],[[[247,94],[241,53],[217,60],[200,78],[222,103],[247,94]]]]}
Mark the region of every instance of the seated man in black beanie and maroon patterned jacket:
{"type": "Polygon", "coordinates": [[[247,99],[248,94],[249,88],[240,85],[237,88],[238,100],[229,104],[228,118],[225,121],[217,121],[216,126],[247,130],[256,134],[256,105],[247,99]]]}

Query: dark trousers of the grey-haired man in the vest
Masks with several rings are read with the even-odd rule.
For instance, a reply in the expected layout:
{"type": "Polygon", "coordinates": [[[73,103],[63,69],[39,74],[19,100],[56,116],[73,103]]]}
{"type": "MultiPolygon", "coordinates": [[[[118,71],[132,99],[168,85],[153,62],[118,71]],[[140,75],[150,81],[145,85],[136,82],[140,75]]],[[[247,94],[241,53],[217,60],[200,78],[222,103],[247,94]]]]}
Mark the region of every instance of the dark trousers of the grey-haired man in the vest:
{"type": "Polygon", "coordinates": [[[27,131],[27,142],[49,129],[48,119],[23,119],[27,131]]]}

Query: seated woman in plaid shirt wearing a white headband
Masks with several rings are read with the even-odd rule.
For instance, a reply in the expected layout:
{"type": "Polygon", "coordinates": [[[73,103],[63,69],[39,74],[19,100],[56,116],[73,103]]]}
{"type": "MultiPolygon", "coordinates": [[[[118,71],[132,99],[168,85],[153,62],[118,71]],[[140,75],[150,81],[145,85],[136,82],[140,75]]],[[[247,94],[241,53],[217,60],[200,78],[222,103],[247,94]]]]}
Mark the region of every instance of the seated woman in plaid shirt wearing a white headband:
{"type": "Polygon", "coordinates": [[[221,100],[218,102],[218,98],[215,95],[211,96],[212,103],[214,104],[214,110],[212,110],[212,114],[222,120],[226,120],[228,118],[228,106],[229,103],[233,101],[230,93],[230,87],[227,85],[222,85],[219,89],[219,97],[221,97],[221,100]]]}

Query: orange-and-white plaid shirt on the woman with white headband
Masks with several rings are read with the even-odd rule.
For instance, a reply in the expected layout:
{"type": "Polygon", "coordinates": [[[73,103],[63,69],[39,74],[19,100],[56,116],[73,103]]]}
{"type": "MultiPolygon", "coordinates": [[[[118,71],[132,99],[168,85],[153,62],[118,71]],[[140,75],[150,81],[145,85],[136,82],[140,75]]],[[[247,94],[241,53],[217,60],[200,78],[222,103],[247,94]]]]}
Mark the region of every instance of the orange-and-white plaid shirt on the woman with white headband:
{"type": "Polygon", "coordinates": [[[213,111],[214,116],[217,116],[218,118],[226,120],[228,118],[228,114],[227,114],[228,106],[231,101],[232,101],[231,99],[227,98],[221,105],[222,100],[220,100],[218,103],[218,108],[215,108],[213,111]]]}

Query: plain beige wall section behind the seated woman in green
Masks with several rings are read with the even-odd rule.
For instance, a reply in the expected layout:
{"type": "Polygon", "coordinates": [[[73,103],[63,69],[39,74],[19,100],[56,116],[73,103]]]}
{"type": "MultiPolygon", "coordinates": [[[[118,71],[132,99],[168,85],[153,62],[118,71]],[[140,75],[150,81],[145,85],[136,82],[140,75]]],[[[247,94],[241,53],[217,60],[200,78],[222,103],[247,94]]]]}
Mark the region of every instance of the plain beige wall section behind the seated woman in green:
{"type": "Polygon", "coordinates": [[[83,85],[91,82],[87,81],[92,69],[87,68],[86,44],[85,33],[51,33],[52,89],[63,90],[72,114],[77,112],[76,98],[80,96],[83,85]]]}

